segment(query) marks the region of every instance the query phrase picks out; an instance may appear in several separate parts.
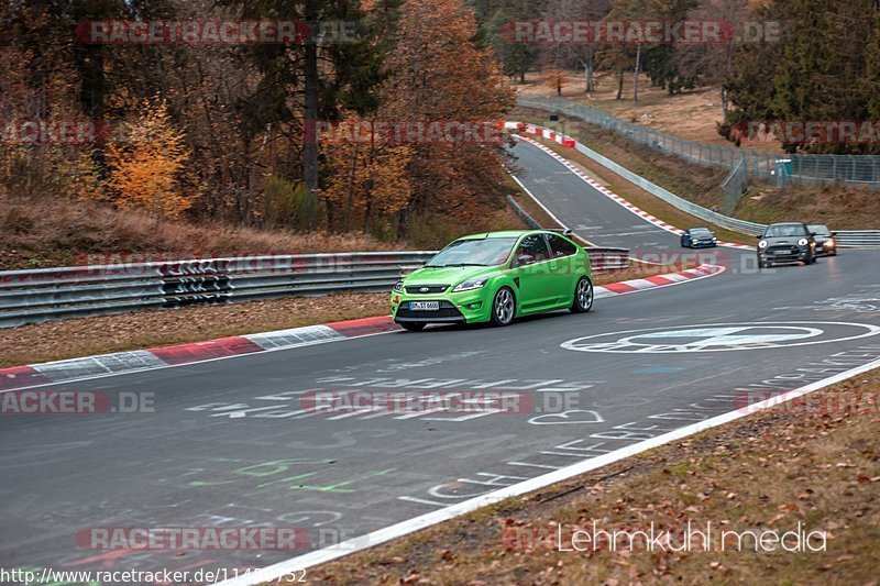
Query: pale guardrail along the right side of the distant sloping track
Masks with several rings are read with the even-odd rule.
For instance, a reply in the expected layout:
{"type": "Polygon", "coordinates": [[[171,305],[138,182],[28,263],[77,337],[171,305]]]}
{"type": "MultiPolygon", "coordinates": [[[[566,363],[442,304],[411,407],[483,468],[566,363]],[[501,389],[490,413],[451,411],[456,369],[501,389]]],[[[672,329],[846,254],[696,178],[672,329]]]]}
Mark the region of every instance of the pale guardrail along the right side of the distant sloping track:
{"type": "MultiPolygon", "coordinates": [[[[508,129],[525,128],[524,130],[521,130],[521,132],[526,135],[541,134],[541,132],[535,132],[536,130],[540,131],[549,130],[549,129],[543,129],[542,126],[538,126],[536,124],[522,124],[521,122],[507,122],[506,125],[508,129]]],[[[564,135],[559,135],[559,136],[564,136],[564,135]]],[[[743,234],[749,234],[751,236],[757,236],[763,233],[765,229],[767,228],[766,224],[747,222],[745,220],[737,220],[736,218],[730,218],[729,215],[725,215],[723,213],[708,210],[706,208],[703,208],[702,206],[697,206],[692,201],[688,201],[686,199],[680,198],[675,194],[667,189],[663,189],[659,185],[649,181],[645,177],[636,175],[626,167],[618,165],[608,157],[596,153],[586,145],[578,141],[574,141],[574,139],[571,139],[570,136],[564,136],[564,139],[570,139],[571,141],[573,141],[574,148],[576,148],[579,153],[586,155],[587,157],[592,158],[603,167],[613,170],[620,177],[625,178],[626,180],[632,184],[636,184],[640,188],[662,199],[667,203],[674,206],[675,208],[685,211],[691,215],[694,215],[695,218],[698,218],[705,222],[711,222],[715,225],[726,228],[727,230],[733,230],[734,232],[739,232],[743,234]]],[[[680,228],[685,228],[685,226],[680,226],[680,228]]],[[[834,230],[833,226],[832,230],[834,230]]],[[[880,230],[838,231],[837,243],[838,245],[844,247],[880,246],[880,230]]]]}

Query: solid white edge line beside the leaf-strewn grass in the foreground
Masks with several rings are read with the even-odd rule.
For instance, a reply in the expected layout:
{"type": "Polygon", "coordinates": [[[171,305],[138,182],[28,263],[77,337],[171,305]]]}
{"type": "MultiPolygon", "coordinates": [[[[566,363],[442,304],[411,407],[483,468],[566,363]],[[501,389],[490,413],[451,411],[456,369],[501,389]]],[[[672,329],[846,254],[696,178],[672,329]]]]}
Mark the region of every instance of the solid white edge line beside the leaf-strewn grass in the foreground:
{"type": "Polygon", "coordinates": [[[386,527],[384,529],[373,531],[372,533],[367,533],[366,535],[354,538],[344,541],[342,543],[339,543],[337,545],[333,545],[331,548],[318,550],[316,552],[307,553],[298,557],[293,557],[285,562],[279,562],[271,566],[266,566],[262,570],[258,570],[245,576],[239,576],[237,578],[228,579],[219,584],[223,584],[226,586],[252,586],[255,584],[261,584],[263,582],[270,582],[272,579],[276,579],[279,576],[284,576],[285,574],[288,574],[294,571],[301,571],[309,567],[315,567],[316,565],[332,562],[333,560],[338,560],[345,555],[356,553],[373,548],[375,545],[380,545],[382,543],[392,541],[403,535],[407,535],[409,533],[414,533],[421,529],[426,529],[428,527],[432,527],[443,521],[448,521],[455,517],[460,517],[462,515],[472,512],[487,505],[494,505],[501,500],[505,500],[510,497],[525,495],[527,493],[544,488],[551,484],[566,480],[574,476],[579,476],[581,474],[585,474],[596,468],[601,468],[602,466],[607,466],[608,464],[613,464],[615,462],[618,462],[620,460],[627,458],[636,454],[640,454],[641,452],[651,450],[653,447],[658,447],[660,445],[664,445],[667,443],[681,440],[683,438],[693,435],[694,433],[698,433],[701,431],[705,431],[712,428],[716,428],[718,425],[723,425],[725,423],[729,423],[730,421],[736,421],[737,419],[747,417],[757,411],[761,411],[770,407],[776,407],[778,405],[789,402],[795,398],[809,395],[813,391],[823,389],[827,386],[840,383],[842,380],[846,380],[854,376],[858,376],[861,373],[866,373],[868,371],[872,371],[878,367],[880,367],[880,360],[872,361],[861,366],[857,366],[856,368],[846,371],[845,373],[837,374],[835,376],[801,387],[796,390],[787,392],[784,394],[785,397],[784,400],[779,400],[779,397],[771,397],[770,399],[767,399],[765,401],[750,405],[747,410],[737,409],[734,411],[728,411],[712,419],[685,425],[678,430],[664,433],[662,435],[658,435],[657,438],[652,438],[644,442],[639,442],[628,447],[616,450],[605,455],[586,460],[578,464],[560,468],[559,471],[544,474],[542,476],[537,476],[529,480],[515,484],[513,486],[508,486],[499,490],[495,490],[494,493],[472,498],[470,500],[459,502],[458,505],[452,505],[451,507],[446,507],[443,509],[421,515],[419,517],[414,517],[413,519],[408,519],[406,521],[402,521],[399,523],[386,527]]]}

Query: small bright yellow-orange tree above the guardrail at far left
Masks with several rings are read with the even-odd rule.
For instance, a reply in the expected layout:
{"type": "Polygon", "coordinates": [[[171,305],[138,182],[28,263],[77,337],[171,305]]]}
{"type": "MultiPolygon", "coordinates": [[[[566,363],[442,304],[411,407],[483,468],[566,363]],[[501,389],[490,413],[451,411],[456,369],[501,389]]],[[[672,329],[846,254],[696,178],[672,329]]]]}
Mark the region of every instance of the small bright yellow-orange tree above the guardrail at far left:
{"type": "Polygon", "coordinates": [[[193,206],[182,185],[189,152],[164,100],[144,102],[127,136],[107,145],[109,189],[121,208],[140,208],[156,218],[176,217],[193,206]]]}

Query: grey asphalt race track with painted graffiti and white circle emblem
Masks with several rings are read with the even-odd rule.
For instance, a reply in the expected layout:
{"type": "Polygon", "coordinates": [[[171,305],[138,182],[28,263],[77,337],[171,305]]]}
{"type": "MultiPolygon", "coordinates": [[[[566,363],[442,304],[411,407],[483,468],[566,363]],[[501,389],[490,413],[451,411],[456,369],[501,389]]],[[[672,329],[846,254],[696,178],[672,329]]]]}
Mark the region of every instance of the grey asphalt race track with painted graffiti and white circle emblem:
{"type": "MultiPolygon", "coordinates": [[[[535,146],[515,152],[524,184],[581,235],[684,252],[678,236],[535,146]]],[[[880,278],[870,269],[880,251],[760,273],[752,252],[700,254],[727,270],[600,299],[585,316],[435,327],[46,386],[151,397],[154,412],[0,417],[2,565],[262,567],[292,555],[105,552],[76,535],[274,524],[307,529],[309,548],[331,545],[730,411],[749,390],[798,388],[880,357],[880,278]],[[395,389],[504,391],[524,407],[302,409],[314,390],[395,389]]]]}

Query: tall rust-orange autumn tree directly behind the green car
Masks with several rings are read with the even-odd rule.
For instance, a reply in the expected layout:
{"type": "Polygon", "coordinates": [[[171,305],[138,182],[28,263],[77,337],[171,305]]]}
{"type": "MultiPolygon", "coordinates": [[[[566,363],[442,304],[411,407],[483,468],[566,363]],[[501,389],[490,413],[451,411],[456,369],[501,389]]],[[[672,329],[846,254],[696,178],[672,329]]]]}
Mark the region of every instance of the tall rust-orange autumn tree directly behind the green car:
{"type": "MultiPolygon", "coordinates": [[[[389,77],[378,117],[396,121],[502,120],[514,103],[492,49],[476,46],[473,10],[461,0],[404,4],[389,77]]],[[[455,218],[458,230],[504,206],[503,145],[493,142],[431,141],[413,145],[408,165],[411,197],[402,211],[411,217],[455,218]]]]}

